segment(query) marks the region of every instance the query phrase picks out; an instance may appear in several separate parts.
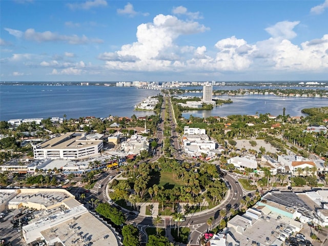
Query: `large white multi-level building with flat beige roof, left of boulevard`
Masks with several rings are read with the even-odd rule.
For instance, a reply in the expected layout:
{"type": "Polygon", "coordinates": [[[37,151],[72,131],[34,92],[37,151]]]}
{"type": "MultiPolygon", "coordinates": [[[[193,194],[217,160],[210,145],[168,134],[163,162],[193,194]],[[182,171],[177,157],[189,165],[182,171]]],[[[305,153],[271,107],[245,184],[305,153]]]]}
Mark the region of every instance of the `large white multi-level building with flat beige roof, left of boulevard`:
{"type": "Polygon", "coordinates": [[[34,159],[85,159],[103,149],[103,134],[67,132],[33,146],[34,159]]]}

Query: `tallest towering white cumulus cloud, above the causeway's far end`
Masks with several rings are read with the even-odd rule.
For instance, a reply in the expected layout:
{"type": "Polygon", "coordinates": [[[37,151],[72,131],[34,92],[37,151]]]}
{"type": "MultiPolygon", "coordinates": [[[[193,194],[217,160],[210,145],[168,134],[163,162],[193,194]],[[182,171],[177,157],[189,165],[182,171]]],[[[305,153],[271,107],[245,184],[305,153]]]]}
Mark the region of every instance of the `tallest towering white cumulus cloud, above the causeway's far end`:
{"type": "Polygon", "coordinates": [[[170,59],[174,56],[170,56],[167,51],[176,49],[174,40],[178,36],[206,30],[208,30],[207,27],[197,22],[186,22],[172,15],[159,14],[154,17],[153,23],[141,24],[137,27],[137,42],[123,45],[116,52],[100,54],[99,58],[110,60],[106,63],[109,68],[115,64],[121,69],[128,68],[129,66],[122,66],[121,63],[130,62],[137,69],[149,70],[152,67],[157,69],[170,64],[170,59]],[[168,54],[165,59],[162,56],[163,53],[168,54]]]}

